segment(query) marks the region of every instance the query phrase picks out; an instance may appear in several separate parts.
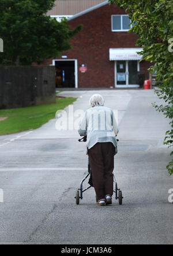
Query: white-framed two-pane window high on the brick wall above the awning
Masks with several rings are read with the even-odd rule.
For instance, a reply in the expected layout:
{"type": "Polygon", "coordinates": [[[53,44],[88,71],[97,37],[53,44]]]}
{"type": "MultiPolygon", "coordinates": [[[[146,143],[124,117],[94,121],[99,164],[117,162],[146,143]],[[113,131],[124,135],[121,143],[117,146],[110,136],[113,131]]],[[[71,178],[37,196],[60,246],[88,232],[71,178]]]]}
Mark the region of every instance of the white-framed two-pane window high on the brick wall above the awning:
{"type": "Polygon", "coordinates": [[[128,31],[132,26],[129,15],[112,15],[112,31],[128,31]]]}

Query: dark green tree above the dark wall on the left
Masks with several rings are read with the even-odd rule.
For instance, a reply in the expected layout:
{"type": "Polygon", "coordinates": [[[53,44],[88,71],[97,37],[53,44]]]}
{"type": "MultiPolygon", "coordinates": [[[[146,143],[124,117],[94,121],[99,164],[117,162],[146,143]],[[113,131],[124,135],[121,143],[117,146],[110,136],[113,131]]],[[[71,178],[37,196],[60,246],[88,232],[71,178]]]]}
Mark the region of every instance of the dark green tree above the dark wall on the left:
{"type": "Polygon", "coordinates": [[[55,0],[0,0],[1,65],[31,65],[69,50],[69,39],[81,30],[70,29],[47,16],[55,0]]]}

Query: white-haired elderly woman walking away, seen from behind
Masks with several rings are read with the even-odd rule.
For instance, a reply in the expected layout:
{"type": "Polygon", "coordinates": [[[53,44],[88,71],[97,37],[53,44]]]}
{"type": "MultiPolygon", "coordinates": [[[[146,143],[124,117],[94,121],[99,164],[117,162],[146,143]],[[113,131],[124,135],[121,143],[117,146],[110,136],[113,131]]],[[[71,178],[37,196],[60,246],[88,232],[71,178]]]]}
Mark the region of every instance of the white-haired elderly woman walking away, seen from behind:
{"type": "Polygon", "coordinates": [[[114,155],[117,153],[115,136],[118,127],[114,112],[104,106],[104,99],[95,94],[89,100],[91,109],[86,110],[78,132],[87,136],[89,161],[97,205],[112,203],[114,176],[114,155]]]}

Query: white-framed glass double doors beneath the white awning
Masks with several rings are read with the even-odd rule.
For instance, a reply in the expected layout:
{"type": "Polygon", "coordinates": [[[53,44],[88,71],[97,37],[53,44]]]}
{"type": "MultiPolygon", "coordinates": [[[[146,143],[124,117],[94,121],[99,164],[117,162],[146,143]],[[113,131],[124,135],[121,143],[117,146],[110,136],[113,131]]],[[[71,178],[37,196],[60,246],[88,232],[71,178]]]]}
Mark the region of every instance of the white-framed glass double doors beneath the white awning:
{"type": "Polygon", "coordinates": [[[115,61],[115,87],[139,87],[138,71],[139,61],[115,61]]]}

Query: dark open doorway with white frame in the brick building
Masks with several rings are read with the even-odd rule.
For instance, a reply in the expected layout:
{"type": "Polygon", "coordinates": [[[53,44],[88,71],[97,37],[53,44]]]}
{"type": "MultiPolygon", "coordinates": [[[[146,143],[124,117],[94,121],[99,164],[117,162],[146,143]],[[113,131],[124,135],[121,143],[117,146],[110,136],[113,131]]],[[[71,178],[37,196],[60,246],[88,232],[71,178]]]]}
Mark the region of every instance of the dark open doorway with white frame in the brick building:
{"type": "Polygon", "coordinates": [[[55,61],[56,87],[75,88],[74,61],[55,61]]]}

